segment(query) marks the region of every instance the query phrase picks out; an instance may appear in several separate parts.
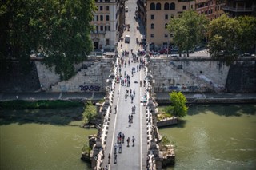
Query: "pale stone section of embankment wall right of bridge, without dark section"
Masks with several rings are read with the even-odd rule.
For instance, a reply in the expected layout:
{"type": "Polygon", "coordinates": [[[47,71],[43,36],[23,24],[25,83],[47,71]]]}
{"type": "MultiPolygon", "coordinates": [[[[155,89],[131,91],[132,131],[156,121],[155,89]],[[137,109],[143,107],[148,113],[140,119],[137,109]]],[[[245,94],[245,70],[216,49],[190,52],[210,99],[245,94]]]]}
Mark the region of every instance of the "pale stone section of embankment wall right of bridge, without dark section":
{"type": "Polygon", "coordinates": [[[229,67],[214,60],[151,59],[154,92],[218,92],[224,89],[229,67]]]}

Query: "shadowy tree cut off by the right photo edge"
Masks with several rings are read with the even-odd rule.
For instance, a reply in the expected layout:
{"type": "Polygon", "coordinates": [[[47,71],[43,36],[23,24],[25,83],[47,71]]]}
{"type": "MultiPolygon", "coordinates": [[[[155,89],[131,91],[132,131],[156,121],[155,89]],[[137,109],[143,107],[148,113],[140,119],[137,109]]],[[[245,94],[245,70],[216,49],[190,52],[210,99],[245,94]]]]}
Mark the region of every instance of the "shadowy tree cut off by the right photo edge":
{"type": "Polygon", "coordinates": [[[256,18],[241,16],[237,20],[242,29],[239,38],[239,49],[242,53],[254,49],[254,53],[256,53],[256,18]]]}

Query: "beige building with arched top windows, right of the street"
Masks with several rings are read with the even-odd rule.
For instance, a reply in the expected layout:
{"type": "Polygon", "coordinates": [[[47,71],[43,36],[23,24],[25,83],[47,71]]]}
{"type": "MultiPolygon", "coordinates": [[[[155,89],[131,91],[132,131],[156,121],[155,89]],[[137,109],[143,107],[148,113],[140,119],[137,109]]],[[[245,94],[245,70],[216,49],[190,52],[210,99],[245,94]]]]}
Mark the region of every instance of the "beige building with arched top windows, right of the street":
{"type": "Polygon", "coordinates": [[[165,47],[171,40],[166,29],[170,18],[177,17],[189,9],[195,9],[193,0],[147,0],[146,42],[158,48],[165,47]]]}

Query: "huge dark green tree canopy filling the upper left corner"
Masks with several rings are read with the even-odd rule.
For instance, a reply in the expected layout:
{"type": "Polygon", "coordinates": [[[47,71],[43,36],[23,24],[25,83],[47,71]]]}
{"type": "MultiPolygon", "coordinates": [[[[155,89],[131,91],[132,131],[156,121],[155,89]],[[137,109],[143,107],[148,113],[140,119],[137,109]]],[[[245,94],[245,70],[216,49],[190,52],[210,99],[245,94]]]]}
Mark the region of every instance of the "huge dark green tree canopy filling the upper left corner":
{"type": "Polygon", "coordinates": [[[93,49],[90,21],[94,0],[3,0],[0,2],[2,69],[14,58],[24,65],[31,53],[41,53],[45,64],[61,79],[74,75],[74,63],[93,49]]]}

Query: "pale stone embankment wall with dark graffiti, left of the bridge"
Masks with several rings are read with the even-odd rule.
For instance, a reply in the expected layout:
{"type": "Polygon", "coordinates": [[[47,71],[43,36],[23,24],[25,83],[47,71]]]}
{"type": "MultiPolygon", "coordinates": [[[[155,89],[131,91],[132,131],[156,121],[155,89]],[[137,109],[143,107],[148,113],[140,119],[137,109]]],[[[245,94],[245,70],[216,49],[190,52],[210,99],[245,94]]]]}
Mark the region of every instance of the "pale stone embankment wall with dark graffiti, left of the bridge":
{"type": "Polygon", "coordinates": [[[97,58],[84,61],[75,66],[77,74],[70,80],[60,81],[54,68],[48,69],[41,61],[35,61],[38,77],[43,90],[47,92],[105,92],[106,79],[108,78],[112,59],[97,58]]]}

